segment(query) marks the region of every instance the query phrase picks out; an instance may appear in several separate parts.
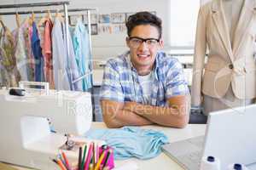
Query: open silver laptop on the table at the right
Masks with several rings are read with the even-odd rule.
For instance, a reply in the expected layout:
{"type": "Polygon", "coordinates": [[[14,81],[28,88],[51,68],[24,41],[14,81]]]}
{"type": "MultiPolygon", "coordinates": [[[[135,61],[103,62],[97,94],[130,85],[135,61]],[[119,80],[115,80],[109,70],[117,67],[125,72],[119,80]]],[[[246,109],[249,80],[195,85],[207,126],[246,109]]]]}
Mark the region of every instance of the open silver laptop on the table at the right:
{"type": "Polygon", "coordinates": [[[162,150],[184,169],[199,170],[202,156],[218,157],[221,169],[232,163],[256,169],[255,125],[256,105],[214,111],[205,136],[164,144],[162,150]]]}

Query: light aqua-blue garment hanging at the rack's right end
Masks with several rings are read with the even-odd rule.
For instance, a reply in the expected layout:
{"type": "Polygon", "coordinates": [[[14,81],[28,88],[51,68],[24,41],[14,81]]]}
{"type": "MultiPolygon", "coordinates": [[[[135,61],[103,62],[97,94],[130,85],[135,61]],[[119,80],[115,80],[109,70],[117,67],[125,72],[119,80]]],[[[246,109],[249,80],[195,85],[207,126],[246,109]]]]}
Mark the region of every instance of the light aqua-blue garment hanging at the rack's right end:
{"type": "MultiPolygon", "coordinates": [[[[78,20],[73,31],[73,48],[75,58],[79,67],[79,75],[83,76],[90,72],[91,55],[89,34],[87,28],[81,20],[78,20]]],[[[86,91],[92,87],[90,74],[83,78],[83,90],[86,91]]]]}

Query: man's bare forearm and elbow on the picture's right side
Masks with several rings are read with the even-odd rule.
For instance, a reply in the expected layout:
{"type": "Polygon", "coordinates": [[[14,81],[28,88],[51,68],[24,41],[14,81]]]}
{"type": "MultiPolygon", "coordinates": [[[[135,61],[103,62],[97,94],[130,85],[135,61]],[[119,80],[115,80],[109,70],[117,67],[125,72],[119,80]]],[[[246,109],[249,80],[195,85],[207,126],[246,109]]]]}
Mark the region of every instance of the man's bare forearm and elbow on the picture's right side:
{"type": "Polygon", "coordinates": [[[169,107],[141,105],[136,102],[126,103],[124,110],[137,113],[155,122],[168,127],[185,127],[189,122],[189,95],[178,95],[168,99],[169,107]]]}

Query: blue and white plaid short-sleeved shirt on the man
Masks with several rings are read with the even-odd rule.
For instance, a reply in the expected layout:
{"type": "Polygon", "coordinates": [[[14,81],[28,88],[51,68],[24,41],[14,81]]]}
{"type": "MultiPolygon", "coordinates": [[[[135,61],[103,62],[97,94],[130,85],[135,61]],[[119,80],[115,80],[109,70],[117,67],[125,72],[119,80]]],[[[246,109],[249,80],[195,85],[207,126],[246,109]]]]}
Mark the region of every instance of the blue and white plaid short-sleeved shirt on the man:
{"type": "Polygon", "coordinates": [[[163,52],[156,55],[154,77],[149,103],[143,99],[143,87],[136,69],[131,65],[130,52],[109,59],[103,75],[101,99],[118,102],[135,101],[144,105],[165,106],[167,99],[176,95],[189,95],[183,66],[177,59],[163,52]]]}

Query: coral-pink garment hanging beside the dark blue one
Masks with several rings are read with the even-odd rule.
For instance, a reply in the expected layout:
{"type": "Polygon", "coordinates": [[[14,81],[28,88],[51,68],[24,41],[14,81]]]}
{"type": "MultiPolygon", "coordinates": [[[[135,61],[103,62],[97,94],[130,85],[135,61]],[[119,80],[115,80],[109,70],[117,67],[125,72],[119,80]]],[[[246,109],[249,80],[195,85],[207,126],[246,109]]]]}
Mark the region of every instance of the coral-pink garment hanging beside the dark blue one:
{"type": "Polygon", "coordinates": [[[53,23],[51,20],[45,20],[44,22],[44,43],[42,44],[44,54],[44,77],[45,81],[49,82],[49,88],[55,88],[53,77],[53,65],[52,65],[52,46],[51,46],[51,32],[53,23]]]}

